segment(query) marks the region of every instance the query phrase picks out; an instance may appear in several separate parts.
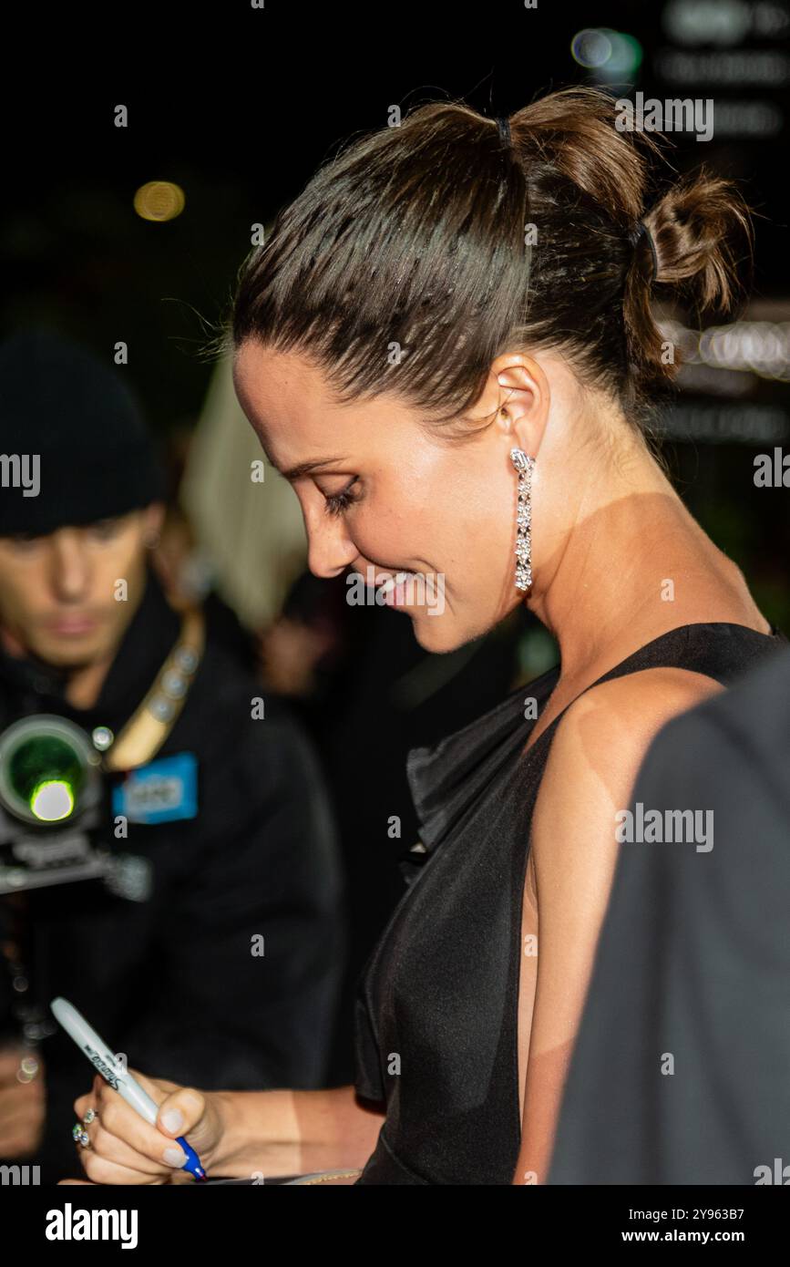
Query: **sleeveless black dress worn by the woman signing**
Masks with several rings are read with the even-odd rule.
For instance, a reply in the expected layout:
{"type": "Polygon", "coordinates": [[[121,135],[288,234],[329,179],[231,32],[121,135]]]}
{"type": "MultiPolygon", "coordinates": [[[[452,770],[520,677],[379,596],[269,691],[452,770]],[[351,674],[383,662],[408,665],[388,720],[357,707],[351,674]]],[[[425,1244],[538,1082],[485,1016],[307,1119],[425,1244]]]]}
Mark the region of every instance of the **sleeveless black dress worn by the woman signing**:
{"type": "MultiPolygon", "coordinates": [[[[768,635],[729,622],[684,625],[598,682],[679,668],[728,685],[785,645],[775,628],[768,635]]],[[[513,1182],[522,1134],[518,992],[529,830],[562,717],[524,754],[536,712],[525,701],[537,699],[539,717],[558,675],[556,666],[433,748],[409,753],[420,841],[403,863],[406,892],[356,997],[354,1087],[363,1098],[386,1101],[376,1149],[357,1183],[513,1182]]]]}

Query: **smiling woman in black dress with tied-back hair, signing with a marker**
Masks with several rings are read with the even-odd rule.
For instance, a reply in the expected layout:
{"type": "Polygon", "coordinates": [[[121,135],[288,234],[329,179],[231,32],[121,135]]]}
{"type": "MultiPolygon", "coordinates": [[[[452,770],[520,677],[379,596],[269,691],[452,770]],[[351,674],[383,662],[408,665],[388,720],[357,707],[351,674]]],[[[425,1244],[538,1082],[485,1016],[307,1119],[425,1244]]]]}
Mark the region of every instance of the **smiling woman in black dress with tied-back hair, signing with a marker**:
{"type": "Polygon", "coordinates": [[[77,1101],[92,1181],[166,1182],[187,1134],[210,1175],[546,1182],[642,758],[782,640],[656,451],[680,353],[655,304],[732,309],[751,239],[730,184],[658,160],[595,89],[509,120],[423,105],[246,260],[234,381],[310,569],[372,568],[429,651],[525,603],[561,661],[409,754],[420,841],[360,978],[354,1085],[146,1079],[158,1128],[103,1085],[77,1101]]]}

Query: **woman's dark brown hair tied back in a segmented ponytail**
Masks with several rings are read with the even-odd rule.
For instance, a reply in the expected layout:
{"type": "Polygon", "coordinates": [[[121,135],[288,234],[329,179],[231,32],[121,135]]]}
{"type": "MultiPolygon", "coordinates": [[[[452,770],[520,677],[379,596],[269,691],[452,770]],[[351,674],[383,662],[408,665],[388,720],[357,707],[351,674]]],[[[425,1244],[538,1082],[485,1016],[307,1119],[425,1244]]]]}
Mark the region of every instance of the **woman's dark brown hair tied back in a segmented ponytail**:
{"type": "Polygon", "coordinates": [[[729,308],[730,239],[751,250],[752,228],[704,170],[651,200],[660,147],[615,118],[606,92],[570,87],[514,114],[511,144],[457,101],[356,139],[242,265],[233,346],[299,350],[338,400],[390,392],[433,422],[463,416],[501,352],[552,347],[644,426],[679,367],[662,360],[653,289],[729,308]]]}

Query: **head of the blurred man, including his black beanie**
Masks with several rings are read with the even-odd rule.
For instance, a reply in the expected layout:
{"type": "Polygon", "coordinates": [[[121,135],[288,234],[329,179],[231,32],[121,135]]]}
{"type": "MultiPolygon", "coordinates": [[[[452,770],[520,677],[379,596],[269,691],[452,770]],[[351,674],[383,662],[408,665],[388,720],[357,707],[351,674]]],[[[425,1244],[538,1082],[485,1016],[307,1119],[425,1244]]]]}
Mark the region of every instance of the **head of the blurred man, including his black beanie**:
{"type": "Polygon", "coordinates": [[[134,614],[162,495],[141,412],[118,372],[46,331],[5,341],[0,637],[11,655],[32,653],[68,674],[75,702],[106,672],[134,614]],[[33,584],[44,546],[54,551],[57,589],[43,575],[33,584]],[[115,599],[115,579],[128,580],[127,601],[115,599]]]}

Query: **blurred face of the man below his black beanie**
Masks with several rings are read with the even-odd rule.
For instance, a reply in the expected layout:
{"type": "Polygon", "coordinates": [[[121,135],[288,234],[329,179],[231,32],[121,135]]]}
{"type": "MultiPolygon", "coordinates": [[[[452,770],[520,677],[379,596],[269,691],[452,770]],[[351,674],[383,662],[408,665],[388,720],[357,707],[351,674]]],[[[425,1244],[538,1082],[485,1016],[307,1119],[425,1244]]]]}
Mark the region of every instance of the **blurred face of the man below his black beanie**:
{"type": "Polygon", "coordinates": [[[65,669],[110,658],[142,598],[146,541],[160,522],[161,507],[149,506],[44,537],[0,537],[5,649],[65,669]]]}

